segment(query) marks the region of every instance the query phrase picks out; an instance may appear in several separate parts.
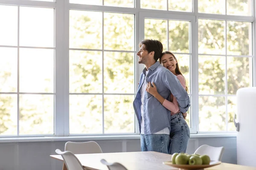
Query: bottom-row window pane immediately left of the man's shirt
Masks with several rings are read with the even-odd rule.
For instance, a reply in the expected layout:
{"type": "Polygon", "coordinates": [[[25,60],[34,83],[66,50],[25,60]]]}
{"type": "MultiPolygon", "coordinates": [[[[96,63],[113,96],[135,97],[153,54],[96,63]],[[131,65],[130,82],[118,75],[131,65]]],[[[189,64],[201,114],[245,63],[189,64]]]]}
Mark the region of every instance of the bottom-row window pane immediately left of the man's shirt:
{"type": "Polygon", "coordinates": [[[104,129],[105,133],[134,133],[135,114],[132,106],[133,96],[104,96],[104,129]]]}

